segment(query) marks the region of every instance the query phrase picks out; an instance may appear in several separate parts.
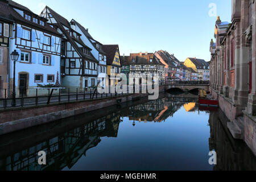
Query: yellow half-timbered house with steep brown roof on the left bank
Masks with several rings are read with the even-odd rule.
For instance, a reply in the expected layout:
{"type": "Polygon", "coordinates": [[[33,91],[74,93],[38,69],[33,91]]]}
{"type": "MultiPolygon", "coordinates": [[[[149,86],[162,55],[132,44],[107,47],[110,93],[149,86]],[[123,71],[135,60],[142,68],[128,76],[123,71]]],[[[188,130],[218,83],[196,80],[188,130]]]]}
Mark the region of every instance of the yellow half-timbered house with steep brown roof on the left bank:
{"type": "Polygon", "coordinates": [[[109,85],[118,84],[118,80],[115,80],[116,76],[120,76],[121,73],[121,61],[118,45],[103,45],[102,50],[107,54],[107,75],[109,76],[109,85]],[[113,80],[113,81],[111,81],[113,80]]]}

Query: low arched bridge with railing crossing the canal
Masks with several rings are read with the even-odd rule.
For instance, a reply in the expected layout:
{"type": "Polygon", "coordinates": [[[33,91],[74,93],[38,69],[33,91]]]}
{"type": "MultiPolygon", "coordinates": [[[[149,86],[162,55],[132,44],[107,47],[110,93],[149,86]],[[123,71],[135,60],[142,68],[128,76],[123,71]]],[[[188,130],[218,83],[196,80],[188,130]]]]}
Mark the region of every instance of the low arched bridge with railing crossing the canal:
{"type": "Polygon", "coordinates": [[[180,89],[189,91],[193,89],[209,90],[209,81],[165,81],[166,90],[180,89]]]}

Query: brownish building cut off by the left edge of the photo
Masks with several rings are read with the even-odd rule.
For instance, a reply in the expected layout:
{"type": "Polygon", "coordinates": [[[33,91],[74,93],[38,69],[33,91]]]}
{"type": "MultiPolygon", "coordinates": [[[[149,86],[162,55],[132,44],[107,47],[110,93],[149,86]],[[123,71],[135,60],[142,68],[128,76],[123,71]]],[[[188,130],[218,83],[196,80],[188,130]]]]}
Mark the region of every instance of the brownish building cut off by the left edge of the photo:
{"type": "Polygon", "coordinates": [[[7,1],[0,1],[0,98],[8,96],[9,38],[13,18],[9,16],[7,1]]]}

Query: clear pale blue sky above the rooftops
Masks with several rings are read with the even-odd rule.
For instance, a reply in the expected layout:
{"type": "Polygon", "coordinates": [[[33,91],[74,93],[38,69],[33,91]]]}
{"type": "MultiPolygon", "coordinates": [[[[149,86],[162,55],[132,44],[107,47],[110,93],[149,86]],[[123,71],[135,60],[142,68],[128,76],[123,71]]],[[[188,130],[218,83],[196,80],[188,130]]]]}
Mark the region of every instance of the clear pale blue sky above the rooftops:
{"type": "Polygon", "coordinates": [[[119,44],[121,55],[166,50],[180,61],[210,60],[216,16],[230,22],[231,0],[14,0],[39,14],[47,5],[69,21],[80,22],[102,44],[119,44]]]}

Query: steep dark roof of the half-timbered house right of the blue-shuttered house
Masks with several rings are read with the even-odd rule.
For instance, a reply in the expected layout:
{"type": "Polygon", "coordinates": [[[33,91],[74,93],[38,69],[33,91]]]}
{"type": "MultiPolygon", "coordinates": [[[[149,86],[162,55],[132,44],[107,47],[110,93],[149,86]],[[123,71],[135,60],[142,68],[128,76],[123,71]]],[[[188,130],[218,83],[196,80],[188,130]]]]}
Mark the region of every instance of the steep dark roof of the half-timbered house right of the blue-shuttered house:
{"type": "MultiPolygon", "coordinates": [[[[46,6],[46,9],[48,9],[51,12],[52,17],[56,20],[57,22],[57,26],[60,28],[61,32],[63,32],[63,34],[65,35],[65,37],[67,38],[68,42],[70,42],[72,44],[72,46],[76,49],[76,51],[80,54],[81,57],[85,58],[85,59],[89,59],[91,61],[94,62],[98,62],[97,59],[94,58],[94,56],[92,55],[92,53],[90,53],[90,55],[85,55],[84,52],[82,51],[82,49],[77,46],[77,43],[79,43],[82,47],[88,48],[90,49],[88,46],[86,46],[81,40],[75,39],[73,38],[67,30],[65,30],[65,27],[69,28],[69,30],[73,29],[71,28],[70,23],[68,22],[67,19],[65,19],[63,16],[57,14],[55,11],[53,11],[50,7],[46,6]]],[[[90,49],[91,50],[91,49],[90,49]]]]}

